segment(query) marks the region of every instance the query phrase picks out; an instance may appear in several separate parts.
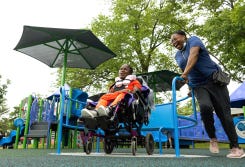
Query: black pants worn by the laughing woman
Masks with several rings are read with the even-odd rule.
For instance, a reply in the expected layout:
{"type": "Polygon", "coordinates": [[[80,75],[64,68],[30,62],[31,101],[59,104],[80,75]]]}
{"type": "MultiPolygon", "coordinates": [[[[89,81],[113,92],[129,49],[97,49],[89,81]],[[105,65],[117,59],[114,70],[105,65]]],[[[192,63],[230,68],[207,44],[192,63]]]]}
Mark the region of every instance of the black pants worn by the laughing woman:
{"type": "Polygon", "coordinates": [[[210,81],[208,84],[194,88],[199,103],[201,118],[209,138],[216,138],[213,111],[217,114],[230,141],[230,148],[239,147],[230,109],[230,97],[226,86],[219,86],[210,81]]]}

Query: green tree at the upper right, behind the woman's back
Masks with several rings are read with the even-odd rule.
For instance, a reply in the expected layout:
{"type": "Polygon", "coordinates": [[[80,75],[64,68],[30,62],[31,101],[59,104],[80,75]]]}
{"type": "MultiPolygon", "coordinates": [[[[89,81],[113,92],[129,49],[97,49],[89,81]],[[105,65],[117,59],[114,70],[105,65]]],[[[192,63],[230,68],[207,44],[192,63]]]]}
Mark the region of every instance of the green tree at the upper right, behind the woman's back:
{"type": "Polygon", "coordinates": [[[197,32],[207,39],[207,48],[231,74],[232,79],[243,82],[245,79],[245,5],[242,2],[231,4],[230,8],[212,13],[197,32]]]}

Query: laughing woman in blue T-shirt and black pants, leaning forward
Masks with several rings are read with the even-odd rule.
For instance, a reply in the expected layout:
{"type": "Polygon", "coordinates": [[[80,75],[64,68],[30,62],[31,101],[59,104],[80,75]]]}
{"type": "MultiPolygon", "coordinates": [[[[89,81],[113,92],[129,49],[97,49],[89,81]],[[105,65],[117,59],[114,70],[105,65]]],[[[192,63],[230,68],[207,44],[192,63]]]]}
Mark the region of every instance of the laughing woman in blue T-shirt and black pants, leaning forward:
{"type": "Polygon", "coordinates": [[[194,89],[202,121],[210,138],[210,152],[219,153],[213,118],[215,111],[230,141],[231,151],[227,154],[227,158],[245,157],[243,149],[238,144],[227,86],[215,83],[212,77],[213,73],[221,68],[210,58],[199,37],[187,38],[186,33],[179,30],[171,35],[171,43],[178,49],[175,60],[183,71],[181,77],[194,89]]]}

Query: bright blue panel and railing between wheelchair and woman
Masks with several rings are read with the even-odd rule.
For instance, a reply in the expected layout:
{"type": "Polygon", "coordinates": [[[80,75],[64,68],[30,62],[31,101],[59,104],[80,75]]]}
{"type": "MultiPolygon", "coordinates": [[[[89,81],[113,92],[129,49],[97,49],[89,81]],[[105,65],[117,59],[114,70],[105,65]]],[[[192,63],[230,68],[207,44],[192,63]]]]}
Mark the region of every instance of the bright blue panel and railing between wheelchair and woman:
{"type": "MultiPolygon", "coordinates": [[[[148,126],[143,126],[142,131],[147,132],[158,132],[154,138],[158,138],[159,142],[159,153],[162,154],[162,137],[164,136],[164,130],[171,131],[173,133],[174,146],[175,146],[175,155],[180,157],[180,146],[179,146],[179,130],[184,128],[191,128],[197,125],[197,116],[196,116],[196,103],[194,98],[194,92],[192,91],[192,108],[194,117],[187,117],[178,115],[177,103],[188,99],[189,97],[184,97],[180,100],[177,100],[176,97],[176,83],[177,81],[183,81],[180,77],[175,77],[172,80],[172,102],[159,104],[155,106],[155,110],[152,111],[151,117],[149,120],[148,126]],[[188,120],[188,124],[179,125],[179,120],[188,120]]],[[[165,138],[166,141],[166,138],[165,138]]]]}

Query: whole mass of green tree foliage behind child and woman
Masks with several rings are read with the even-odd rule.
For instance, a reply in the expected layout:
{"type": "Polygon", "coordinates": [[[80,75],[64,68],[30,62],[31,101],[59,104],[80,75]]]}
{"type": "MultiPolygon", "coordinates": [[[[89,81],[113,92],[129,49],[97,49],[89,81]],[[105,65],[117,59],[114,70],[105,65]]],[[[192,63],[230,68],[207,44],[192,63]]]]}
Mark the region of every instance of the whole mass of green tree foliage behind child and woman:
{"type": "Polygon", "coordinates": [[[106,91],[124,63],[133,66],[135,73],[179,72],[169,43],[178,29],[204,39],[232,79],[242,81],[244,15],[241,0],[112,0],[111,15],[99,15],[90,29],[117,57],[95,70],[69,69],[67,83],[86,91],[106,91]]]}

